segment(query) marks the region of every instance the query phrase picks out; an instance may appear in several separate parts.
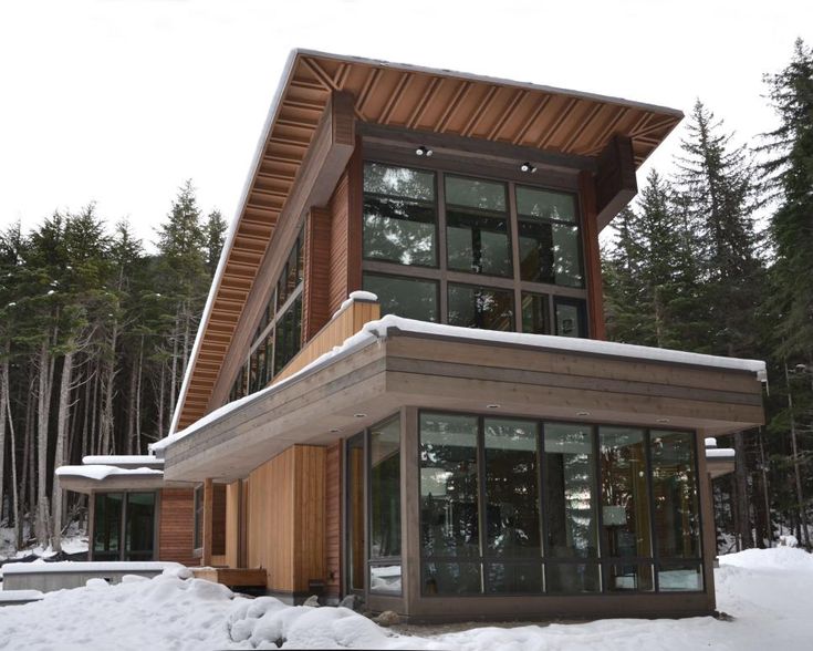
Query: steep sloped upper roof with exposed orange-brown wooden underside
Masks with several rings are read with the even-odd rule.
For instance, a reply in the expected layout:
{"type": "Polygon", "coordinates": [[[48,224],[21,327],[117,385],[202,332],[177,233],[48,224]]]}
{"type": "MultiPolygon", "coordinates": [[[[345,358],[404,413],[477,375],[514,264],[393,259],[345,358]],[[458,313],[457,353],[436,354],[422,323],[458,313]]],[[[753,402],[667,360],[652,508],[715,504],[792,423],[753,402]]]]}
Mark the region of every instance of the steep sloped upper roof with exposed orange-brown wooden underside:
{"type": "Polygon", "coordinates": [[[294,50],[231,224],[171,432],[207,412],[257,270],[331,93],[361,122],[597,156],[614,135],[639,166],[678,124],[673,108],[448,70],[294,50]]]}

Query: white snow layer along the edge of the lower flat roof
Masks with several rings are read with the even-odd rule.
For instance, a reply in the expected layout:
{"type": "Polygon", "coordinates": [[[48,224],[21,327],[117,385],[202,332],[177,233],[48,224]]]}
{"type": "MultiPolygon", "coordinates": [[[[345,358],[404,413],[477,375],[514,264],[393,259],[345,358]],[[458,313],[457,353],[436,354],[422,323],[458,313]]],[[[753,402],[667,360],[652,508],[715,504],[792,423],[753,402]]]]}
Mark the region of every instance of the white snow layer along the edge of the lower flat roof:
{"type": "MultiPolygon", "coordinates": [[[[359,300],[367,299],[368,292],[353,292],[351,298],[359,300]]],[[[369,294],[375,297],[375,294],[369,294]]],[[[375,297],[377,298],[377,297],[375,297]]],[[[630,343],[616,343],[613,341],[600,341],[595,339],[577,339],[572,337],[557,337],[554,334],[527,334],[521,332],[498,332],[496,330],[479,330],[473,328],[461,328],[459,326],[445,326],[441,323],[429,323],[427,321],[416,321],[415,319],[405,319],[394,314],[387,314],[377,321],[369,321],[350,337],[341,345],[334,347],[333,350],[316,358],[310,364],[303,366],[296,373],[267,386],[256,393],[246,395],[234,402],[230,402],[196,421],[186,430],[170,434],[149,446],[152,452],[166,450],[169,445],[179,441],[189,434],[197,432],[206,425],[226,417],[231,412],[249,404],[264,395],[279,391],[282,386],[299,378],[300,375],[314,371],[327,363],[335,361],[340,355],[344,356],[352,351],[361,349],[373,341],[387,338],[389,330],[399,332],[410,332],[415,334],[429,334],[435,337],[454,338],[469,341],[482,341],[488,343],[508,343],[517,345],[527,345],[538,348],[540,350],[556,350],[575,353],[600,354],[617,358],[628,358],[636,360],[650,360],[656,362],[690,364],[697,366],[708,366],[712,369],[726,369],[730,371],[746,371],[757,374],[757,379],[764,382],[768,378],[765,363],[759,360],[743,360],[739,358],[722,358],[717,355],[706,355],[701,353],[691,353],[678,350],[668,350],[664,348],[650,348],[646,345],[634,345],[630,343]]]]}

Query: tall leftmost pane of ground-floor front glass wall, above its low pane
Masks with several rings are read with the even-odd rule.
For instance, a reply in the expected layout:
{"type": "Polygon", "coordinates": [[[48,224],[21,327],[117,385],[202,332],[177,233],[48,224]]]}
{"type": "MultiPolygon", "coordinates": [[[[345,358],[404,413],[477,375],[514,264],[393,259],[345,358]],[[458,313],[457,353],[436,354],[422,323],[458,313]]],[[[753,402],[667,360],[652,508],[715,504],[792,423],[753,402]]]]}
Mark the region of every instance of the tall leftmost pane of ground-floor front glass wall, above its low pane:
{"type": "Polygon", "coordinates": [[[425,557],[479,556],[477,417],[420,415],[420,528],[425,557]]]}

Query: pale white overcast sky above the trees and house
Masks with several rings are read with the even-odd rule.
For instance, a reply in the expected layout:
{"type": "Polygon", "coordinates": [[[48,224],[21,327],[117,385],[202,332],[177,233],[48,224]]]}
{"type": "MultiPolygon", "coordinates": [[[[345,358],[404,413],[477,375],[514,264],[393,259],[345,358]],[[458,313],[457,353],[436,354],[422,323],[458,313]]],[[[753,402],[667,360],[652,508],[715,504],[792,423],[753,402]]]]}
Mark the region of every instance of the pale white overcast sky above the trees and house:
{"type": "Polygon", "coordinates": [[[94,200],[149,244],[186,178],[231,220],[293,48],[685,113],[700,97],[747,142],[798,37],[811,0],[0,0],[0,227],[94,200]]]}

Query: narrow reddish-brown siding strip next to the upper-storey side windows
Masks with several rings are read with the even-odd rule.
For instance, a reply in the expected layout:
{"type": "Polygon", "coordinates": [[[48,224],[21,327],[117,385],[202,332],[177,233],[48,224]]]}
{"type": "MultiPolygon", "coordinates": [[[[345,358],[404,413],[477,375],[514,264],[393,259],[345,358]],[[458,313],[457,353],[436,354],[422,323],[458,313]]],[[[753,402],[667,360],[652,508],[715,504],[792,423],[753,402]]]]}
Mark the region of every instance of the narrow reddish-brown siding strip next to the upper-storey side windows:
{"type": "Polygon", "coordinates": [[[331,319],[331,211],[313,208],[305,227],[302,339],[310,341],[331,319]]]}

